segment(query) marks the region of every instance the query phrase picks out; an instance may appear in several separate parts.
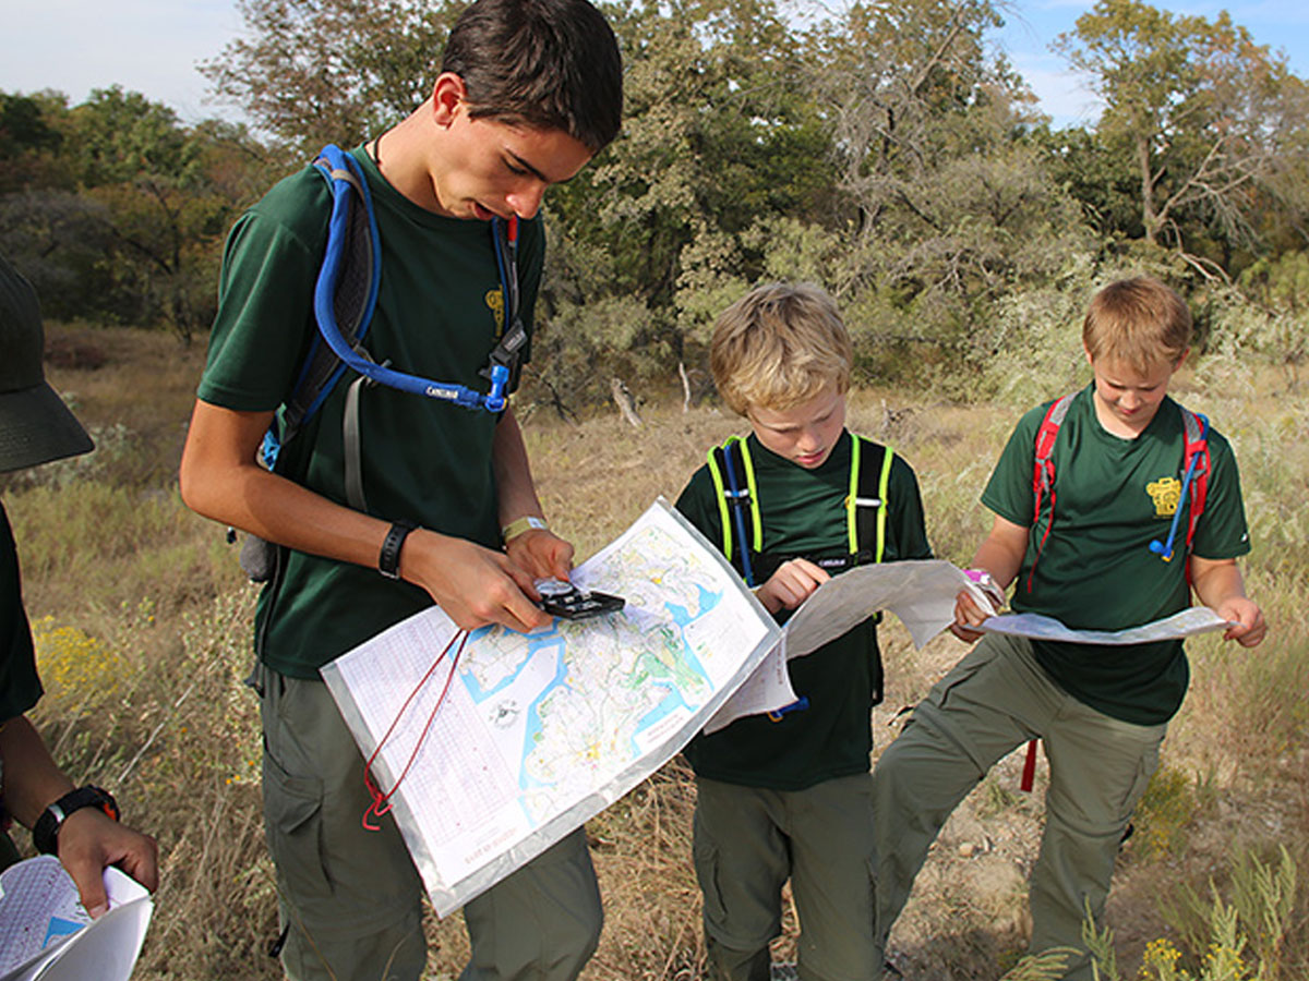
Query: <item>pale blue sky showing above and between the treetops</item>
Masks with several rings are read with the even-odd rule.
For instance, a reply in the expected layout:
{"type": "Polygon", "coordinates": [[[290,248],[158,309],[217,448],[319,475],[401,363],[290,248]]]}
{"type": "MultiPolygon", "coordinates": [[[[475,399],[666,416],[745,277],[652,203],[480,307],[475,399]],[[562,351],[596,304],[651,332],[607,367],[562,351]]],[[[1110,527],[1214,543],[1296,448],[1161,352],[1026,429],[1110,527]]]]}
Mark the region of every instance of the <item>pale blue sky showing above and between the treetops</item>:
{"type": "MultiPolygon", "coordinates": [[[[1055,126],[1089,126],[1100,114],[1084,80],[1050,50],[1092,5],[1090,0],[1011,0],[1007,24],[991,39],[1055,126]]],[[[1227,9],[1258,43],[1283,50],[1292,71],[1309,77],[1309,4],[1302,0],[1153,5],[1210,20],[1227,9]]],[[[0,0],[0,92],[56,89],[76,105],[92,89],[118,84],[171,106],[187,123],[237,119],[237,110],[208,97],[196,64],[216,58],[241,30],[233,0],[0,0]]]]}

